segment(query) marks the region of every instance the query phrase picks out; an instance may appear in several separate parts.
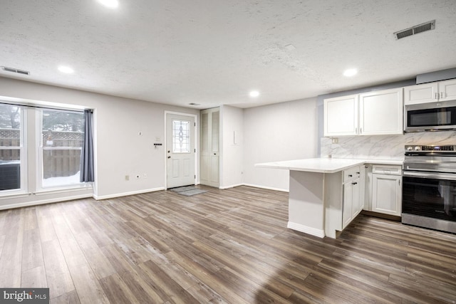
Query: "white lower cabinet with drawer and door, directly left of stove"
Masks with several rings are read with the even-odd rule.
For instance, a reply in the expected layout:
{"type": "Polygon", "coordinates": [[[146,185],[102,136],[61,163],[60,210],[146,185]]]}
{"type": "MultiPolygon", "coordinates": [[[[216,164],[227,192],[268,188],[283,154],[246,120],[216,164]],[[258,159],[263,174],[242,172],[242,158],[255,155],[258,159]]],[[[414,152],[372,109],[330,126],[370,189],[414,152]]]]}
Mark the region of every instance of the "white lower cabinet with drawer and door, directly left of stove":
{"type": "Polygon", "coordinates": [[[400,216],[402,204],[400,166],[376,166],[372,169],[372,211],[400,216]]]}

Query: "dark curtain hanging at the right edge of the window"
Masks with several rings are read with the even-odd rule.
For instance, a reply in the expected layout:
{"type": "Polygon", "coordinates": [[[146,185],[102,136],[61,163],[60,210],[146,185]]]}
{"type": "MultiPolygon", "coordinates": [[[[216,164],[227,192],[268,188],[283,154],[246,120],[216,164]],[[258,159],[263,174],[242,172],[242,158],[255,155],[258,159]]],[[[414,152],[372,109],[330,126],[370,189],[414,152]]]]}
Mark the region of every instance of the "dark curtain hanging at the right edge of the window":
{"type": "Polygon", "coordinates": [[[92,110],[84,110],[86,125],[84,127],[84,142],[81,150],[81,182],[93,182],[93,127],[92,110]]]}

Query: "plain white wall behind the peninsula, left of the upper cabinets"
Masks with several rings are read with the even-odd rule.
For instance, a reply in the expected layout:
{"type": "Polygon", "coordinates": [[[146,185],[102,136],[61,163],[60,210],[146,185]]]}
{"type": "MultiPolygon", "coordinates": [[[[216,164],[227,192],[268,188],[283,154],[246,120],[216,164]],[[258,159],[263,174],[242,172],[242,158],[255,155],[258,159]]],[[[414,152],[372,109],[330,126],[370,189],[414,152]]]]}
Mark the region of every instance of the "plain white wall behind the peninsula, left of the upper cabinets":
{"type": "Polygon", "coordinates": [[[316,98],[244,110],[244,184],[289,190],[288,170],[259,162],[316,157],[316,98]]]}

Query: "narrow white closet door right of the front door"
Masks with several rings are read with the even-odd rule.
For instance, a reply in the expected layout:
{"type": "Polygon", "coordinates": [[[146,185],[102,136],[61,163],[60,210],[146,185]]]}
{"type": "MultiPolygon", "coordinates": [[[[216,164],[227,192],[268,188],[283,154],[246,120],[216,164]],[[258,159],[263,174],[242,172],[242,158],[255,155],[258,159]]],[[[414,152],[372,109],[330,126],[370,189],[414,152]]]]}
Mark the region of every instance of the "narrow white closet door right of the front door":
{"type": "Polygon", "coordinates": [[[212,108],[201,111],[201,168],[200,182],[219,187],[219,136],[220,110],[212,108]]]}

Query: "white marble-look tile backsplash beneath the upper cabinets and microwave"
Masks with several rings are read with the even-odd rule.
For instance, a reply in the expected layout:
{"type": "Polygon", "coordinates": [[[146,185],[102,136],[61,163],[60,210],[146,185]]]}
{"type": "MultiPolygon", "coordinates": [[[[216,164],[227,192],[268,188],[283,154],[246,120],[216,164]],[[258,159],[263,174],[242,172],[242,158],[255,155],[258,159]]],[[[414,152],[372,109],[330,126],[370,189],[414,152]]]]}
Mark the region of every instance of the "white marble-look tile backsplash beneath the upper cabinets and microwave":
{"type": "Polygon", "coordinates": [[[321,137],[320,157],[403,159],[405,145],[456,145],[456,131],[416,132],[405,135],[321,137]]]}

